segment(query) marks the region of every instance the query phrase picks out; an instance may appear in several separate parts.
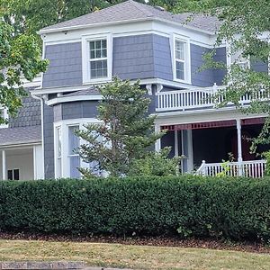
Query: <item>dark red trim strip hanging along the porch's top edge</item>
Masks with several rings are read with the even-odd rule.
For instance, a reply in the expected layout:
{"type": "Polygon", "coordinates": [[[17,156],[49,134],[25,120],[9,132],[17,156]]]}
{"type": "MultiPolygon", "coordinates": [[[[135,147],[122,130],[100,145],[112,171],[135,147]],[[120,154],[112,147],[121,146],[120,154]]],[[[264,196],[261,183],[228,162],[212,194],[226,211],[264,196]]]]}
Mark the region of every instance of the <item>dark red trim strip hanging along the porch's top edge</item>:
{"type": "MultiPolygon", "coordinates": [[[[242,119],[241,125],[253,125],[262,124],[265,122],[265,118],[250,118],[242,119]]],[[[161,126],[161,130],[202,130],[202,129],[212,129],[220,127],[233,127],[236,126],[236,120],[227,121],[206,121],[206,122],[195,122],[189,124],[179,124],[179,125],[167,125],[161,126]]]]}

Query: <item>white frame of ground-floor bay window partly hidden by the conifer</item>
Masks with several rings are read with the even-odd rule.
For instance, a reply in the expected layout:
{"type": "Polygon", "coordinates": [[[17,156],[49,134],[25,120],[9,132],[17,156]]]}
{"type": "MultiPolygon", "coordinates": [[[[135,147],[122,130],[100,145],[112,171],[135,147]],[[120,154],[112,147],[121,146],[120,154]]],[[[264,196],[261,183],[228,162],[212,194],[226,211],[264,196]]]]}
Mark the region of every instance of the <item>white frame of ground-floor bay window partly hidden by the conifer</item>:
{"type": "MultiPolygon", "coordinates": [[[[80,130],[85,129],[85,125],[88,123],[100,123],[101,121],[96,118],[81,118],[71,119],[64,121],[54,122],[54,173],[56,178],[68,178],[70,177],[70,155],[69,155],[69,141],[68,141],[68,127],[78,126],[80,130]],[[62,156],[61,156],[61,172],[58,172],[58,138],[57,129],[62,130],[62,156]]],[[[83,144],[82,139],[79,140],[79,144],[83,144]]],[[[89,165],[80,158],[80,167],[87,168],[89,165]]]]}

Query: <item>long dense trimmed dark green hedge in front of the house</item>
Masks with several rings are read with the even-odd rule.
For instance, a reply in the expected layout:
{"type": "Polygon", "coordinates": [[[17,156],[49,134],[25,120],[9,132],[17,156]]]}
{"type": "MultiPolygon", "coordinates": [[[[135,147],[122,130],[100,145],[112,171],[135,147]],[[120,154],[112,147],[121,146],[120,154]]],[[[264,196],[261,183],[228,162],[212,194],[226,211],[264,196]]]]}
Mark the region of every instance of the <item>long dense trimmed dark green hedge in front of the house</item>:
{"type": "Polygon", "coordinates": [[[1,181],[0,229],[268,240],[270,180],[1,181]]]}

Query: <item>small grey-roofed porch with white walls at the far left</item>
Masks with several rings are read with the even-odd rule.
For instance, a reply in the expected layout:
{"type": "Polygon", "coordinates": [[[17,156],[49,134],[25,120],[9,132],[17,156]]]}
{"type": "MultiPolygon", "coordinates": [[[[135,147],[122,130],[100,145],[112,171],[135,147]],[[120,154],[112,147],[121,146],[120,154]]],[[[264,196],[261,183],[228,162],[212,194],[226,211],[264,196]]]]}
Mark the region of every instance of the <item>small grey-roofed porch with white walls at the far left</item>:
{"type": "Polygon", "coordinates": [[[0,130],[0,180],[42,179],[40,126],[0,130]]]}

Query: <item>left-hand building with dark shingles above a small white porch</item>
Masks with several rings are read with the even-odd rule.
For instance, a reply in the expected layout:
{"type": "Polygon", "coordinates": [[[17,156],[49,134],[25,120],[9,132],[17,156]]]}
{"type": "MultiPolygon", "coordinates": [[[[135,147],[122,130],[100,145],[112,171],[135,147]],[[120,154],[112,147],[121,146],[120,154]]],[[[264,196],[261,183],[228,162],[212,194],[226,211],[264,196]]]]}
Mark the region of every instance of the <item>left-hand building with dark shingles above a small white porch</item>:
{"type": "Polygon", "coordinates": [[[8,117],[4,108],[0,112],[8,124],[0,125],[0,179],[31,180],[44,177],[41,147],[40,101],[30,91],[40,86],[40,78],[25,83],[28,97],[17,117],[8,117]]]}

